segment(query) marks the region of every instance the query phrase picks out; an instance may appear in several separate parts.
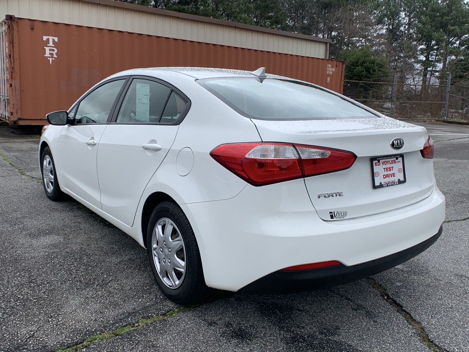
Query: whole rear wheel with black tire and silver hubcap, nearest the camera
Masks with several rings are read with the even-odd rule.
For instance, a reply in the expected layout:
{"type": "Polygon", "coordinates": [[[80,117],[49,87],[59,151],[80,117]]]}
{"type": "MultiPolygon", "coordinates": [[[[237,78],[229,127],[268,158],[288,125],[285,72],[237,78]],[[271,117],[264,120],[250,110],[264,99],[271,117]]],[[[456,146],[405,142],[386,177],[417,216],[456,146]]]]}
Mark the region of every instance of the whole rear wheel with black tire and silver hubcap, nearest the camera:
{"type": "Polygon", "coordinates": [[[178,304],[200,302],[211,289],[205,285],[202,261],[194,231],[180,207],[159,203],[147,231],[151,271],[164,295],[178,304]]]}

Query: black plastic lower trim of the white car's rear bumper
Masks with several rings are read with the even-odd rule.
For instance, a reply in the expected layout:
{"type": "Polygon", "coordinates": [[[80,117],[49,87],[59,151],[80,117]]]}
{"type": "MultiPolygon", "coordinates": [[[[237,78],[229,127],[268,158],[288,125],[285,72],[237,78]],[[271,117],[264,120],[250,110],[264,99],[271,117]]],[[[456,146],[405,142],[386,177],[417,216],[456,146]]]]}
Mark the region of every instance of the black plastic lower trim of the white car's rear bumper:
{"type": "Polygon", "coordinates": [[[416,255],[424,252],[435,243],[443,231],[443,225],[438,232],[424,242],[404,249],[401,252],[386,257],[370,260],[352,266],[339,265],[332,268],[322,268],[303,271],[276,271],[244,286],[238,292],[260,294],[282,294],[312,291],[349,283],[364,277],[378,274],[393,268],[416,255]]]}

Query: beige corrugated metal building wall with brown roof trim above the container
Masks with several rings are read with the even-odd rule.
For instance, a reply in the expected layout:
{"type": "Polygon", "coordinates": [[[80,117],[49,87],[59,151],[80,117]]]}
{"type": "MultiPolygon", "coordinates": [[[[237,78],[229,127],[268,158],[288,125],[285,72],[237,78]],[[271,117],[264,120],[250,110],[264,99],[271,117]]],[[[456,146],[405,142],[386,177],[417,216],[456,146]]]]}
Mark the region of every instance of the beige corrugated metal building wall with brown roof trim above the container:
{"type": "Polygon", "coordinates": [[[114,0],[0,0],[0,15],[328,59],[329,39],[114,0]]]}

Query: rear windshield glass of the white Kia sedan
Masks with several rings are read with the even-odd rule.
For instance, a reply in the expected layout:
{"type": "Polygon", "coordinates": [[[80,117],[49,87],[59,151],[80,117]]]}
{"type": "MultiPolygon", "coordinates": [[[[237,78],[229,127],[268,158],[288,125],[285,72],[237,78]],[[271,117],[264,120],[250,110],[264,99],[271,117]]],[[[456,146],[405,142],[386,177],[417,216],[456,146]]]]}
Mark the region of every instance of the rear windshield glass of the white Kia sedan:
{"type": "Polygon", "coordinates": [[[297,81],[257,77],[199,79],[197,83],[238,113],[260,120],[335,120],[377,115],[297,81]]]}

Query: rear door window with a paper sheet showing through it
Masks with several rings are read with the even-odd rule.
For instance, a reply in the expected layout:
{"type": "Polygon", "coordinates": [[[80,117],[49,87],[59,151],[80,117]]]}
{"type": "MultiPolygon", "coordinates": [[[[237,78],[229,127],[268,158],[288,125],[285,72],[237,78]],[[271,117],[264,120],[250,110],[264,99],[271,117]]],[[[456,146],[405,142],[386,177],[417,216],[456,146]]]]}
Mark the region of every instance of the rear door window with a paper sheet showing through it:
{"type": "Polygon", "coordinates": [[[146,79],[134,79],[117,115],[118,123],[159,122],[171,90],[146,79]]]}

